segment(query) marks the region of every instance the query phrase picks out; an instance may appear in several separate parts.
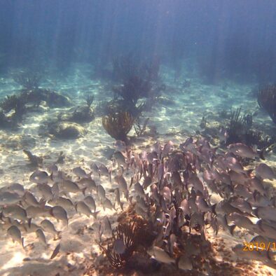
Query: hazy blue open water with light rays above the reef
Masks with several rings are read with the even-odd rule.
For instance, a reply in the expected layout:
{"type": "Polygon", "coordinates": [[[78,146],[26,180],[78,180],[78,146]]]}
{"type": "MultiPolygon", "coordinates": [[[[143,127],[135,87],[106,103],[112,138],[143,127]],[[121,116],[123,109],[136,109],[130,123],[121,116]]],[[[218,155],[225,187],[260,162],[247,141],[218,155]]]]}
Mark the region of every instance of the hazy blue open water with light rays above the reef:
{"type": "MultiPolygon", "coordinates": [[[[1,72],[160,55],[205,81],[275,81],[275,1],[1,1],[1,72]],[[3,57],[4,55],[4,57],[3,57]]],[[[177,72],[179,74],[179,72],[177,72]]]]}

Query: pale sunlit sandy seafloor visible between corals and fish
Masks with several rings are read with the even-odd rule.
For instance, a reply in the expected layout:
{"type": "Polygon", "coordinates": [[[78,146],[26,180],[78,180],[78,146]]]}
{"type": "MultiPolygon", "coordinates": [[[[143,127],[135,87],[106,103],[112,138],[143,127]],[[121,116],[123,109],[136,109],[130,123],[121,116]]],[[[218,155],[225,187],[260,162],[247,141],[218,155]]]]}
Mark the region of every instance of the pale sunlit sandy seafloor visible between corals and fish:
{"type": "MultiPolygon", "coordinates": [[[[74,105],[85,105],[84,95],[91,92],[95,95],[95,101],[92,104],[92,108],[95,108],[100,101],[112,99],[112,92],[111,83],[90,78],[91,71],[92,68],[89,65],[76,64],[66,78],[60,78],[60,81],[57,81],[54,77],[53,80],[49,77],[41,84],[41,87],[69,95],[74,105]]],[[[275,134],[276,127],[272,120],[263,111],[258,110],[256,97],[250,94],[254,85],[240,85],[229,81],[227,85],[226,83],[205,85],[196,76],[188,76],[188,78],[191,80],[191,87],[183,88],[182,83],[185,78],[175,81],[172,74],[163,68],[163,81],[167,85],[167,89],[163,92],[164,100],[158,101],[151,111],[144,113],[145,118],[150,118],[149,124],[156,126],[158,134],[154,139],[153,137],[136,139],[132,145],[134,151],[149,150],[150,145],[156,140],[163,143],[172,140],[178,145],[184,142],[186,137],[195,136],[198,131],[202,130],[200,128],[202,116],[205,116],[208,122],[212,120],[212,116],[217,116],[217,111],[229,111],[230,106],[233,106],[234,109],[241,106],[242,111],[252,113],[257,110],[253,118],[254,124],[268,134],[275,134]]],[[[1,97],[11,95],[14,93],[13,91],[19,89],[19,85],[12,78],[0,79],[1,97]]],[[[0,187],[18,182],[24,184],[25,188],[34,191],[35,184],[29,181],[29,176],[34,169],[28,166],[28,160],[22,153],[22,149],[28,149],[36,156],[43,156],[42,169],[52,165],[57,160],[60,151],[63,151],[66,158],[64,164],[58,166],[60,170],[71,175],[73,175],[71,170],[78,166],[83,167],[86,172],[90,172],[92,162],[104,163],[108,167],[112,166],[110,157],[113,152],[114,140],[102,127],[101,117],[96,117],[91,123],[84,124],[88,133],[76,140],[63,141],[39,136],[39,125],[43,120],[53,118],[60,111],[66,110],[44,109],[41,112],[27,113],[17,131],[0,130],[0,187]]],[[[131,135],[134,135],[134,132],[130,132],[131,135]]],[[[276,167],[276,156],[268,156],[265,163],[276,167]]],[[[109,188],[112,186],[108,179],[95,177],[95,180],[97,184],[101,183],[106,188],[106,197],[112,199],[113,195],[109,193],[109,188]]],[[[276,181],[270,181],[271,184],[276,187],[276,181]]],[[[34,193],[36,192],[34,191],[34,193]]],[[[96,195],[95,198],[97,204],[99,201],[97,201],[96,195]]],[[[124,198],[123,202],[125,202],[124,198]]],[[[118,217],[116,211],[109,209],[104,211],[99,204],[97,204],[97,210],[100,211],[99,220],[107,215],[112,226],[116,226],[118,217]]],[[[53,261],[49,260],[50,255],[60,242],[53,240],[53,235],[45,233],[49,244],[46,250],[34,233],[23,234],[25,249],[22,249],[18,243],[13,243],[5,232],[1,232],[0,275],[83,275],[85,265],[88,263],[91,265],[94,263],[96,267],[99,263],[109,265],[108,261],[104,261],[104,256],[97,245],[95,231],[90,229],[94,222],[95,219],[92,217],[74,214],[69,219],[68,228],[62,223],[55,223],[56,228],[62,230],[62,240],[61,254],[57,255],[53,261]]],[[[218,240],[222,237],[230,251],[230,247],[244,240],[248,242],[251,238],[242,230],[236,230],[235,233],[235,237],[232,237],[221,229],[217,237],[214,237],[211,231],[208,231],[208,236],[210,240],[218,240]]],[[[220,260],[225,258],[219,251],[216,257],[220,260]]],[[[234,262],[233,254],[231,258],[234,262]]],[[[271,268],[267,268],[259,262],[254,262],[254,264],[257,265],[254,271],[252,270],[251,274],[244,272],[244,275],[268,275],[268,271],[273,274],[271,268]]],[[[100,274],[95,270],[93,275],[100,274]]]]}

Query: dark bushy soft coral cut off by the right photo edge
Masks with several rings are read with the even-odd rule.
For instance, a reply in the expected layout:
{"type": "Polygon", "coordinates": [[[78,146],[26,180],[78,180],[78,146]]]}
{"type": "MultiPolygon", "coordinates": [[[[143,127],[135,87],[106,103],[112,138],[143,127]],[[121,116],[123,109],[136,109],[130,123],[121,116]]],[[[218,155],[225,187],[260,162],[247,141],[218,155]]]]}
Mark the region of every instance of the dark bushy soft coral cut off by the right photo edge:
{"type": "Polygon", "coordinates": [[[267,85],[258,91],[258,105],[265,109],[273,123],[276,123],[276,85],[267,85]]]}

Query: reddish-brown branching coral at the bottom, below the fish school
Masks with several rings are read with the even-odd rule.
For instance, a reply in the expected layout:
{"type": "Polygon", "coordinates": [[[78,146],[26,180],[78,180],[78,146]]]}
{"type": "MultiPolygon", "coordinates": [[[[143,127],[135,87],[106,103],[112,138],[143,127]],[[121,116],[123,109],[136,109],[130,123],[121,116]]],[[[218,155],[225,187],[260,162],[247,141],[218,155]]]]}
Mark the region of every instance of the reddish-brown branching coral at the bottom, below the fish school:
{"type": "Polygon", "coordinates": [[[135,227],[133,221],[129,224],[119,224],[112,231],[111,241],[107,244],[107,248],[101,244],[99,244],[99,247],[103,249],[111,265],[118,269],[125,267],[137,248],[137,243],[137,227],[135,227]],[[117,244],[119,244],[120,250],[116,248],[117,244]]]}

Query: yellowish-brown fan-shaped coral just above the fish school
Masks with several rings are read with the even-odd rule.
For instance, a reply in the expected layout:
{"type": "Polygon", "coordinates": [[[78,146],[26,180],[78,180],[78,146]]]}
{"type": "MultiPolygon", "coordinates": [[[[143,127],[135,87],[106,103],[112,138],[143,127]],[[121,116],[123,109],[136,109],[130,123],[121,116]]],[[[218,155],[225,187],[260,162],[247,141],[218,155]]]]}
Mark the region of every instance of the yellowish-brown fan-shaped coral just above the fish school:
{"type": "Polygon", "coordinates": [[[132,129],[134,118],[129,112],[110,113],[102,117],[102,125],[106,132],[114,139],[127,141],[127,133],[132,129]]]}

